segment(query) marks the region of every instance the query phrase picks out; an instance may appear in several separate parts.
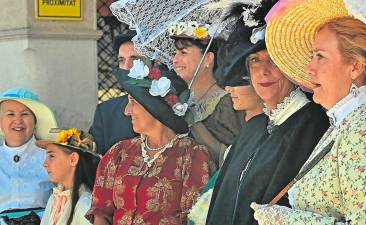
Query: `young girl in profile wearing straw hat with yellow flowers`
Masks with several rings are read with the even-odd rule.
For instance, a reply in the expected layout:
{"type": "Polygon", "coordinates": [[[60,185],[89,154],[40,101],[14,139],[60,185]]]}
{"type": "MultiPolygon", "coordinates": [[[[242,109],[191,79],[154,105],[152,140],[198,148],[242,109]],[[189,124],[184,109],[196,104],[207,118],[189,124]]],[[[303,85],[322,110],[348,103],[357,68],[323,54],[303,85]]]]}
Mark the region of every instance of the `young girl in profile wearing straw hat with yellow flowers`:
{"type": "Polygon", "coordinates": [[[90,225],[84,215],[91,205],[91,190],[100,156],[95,144],[77,129],[62,130],[56,141],[37,141],[47,151],[43,164],[57,184],[48,200],[41,225],[90,225]]]}

